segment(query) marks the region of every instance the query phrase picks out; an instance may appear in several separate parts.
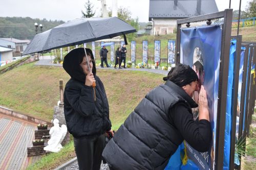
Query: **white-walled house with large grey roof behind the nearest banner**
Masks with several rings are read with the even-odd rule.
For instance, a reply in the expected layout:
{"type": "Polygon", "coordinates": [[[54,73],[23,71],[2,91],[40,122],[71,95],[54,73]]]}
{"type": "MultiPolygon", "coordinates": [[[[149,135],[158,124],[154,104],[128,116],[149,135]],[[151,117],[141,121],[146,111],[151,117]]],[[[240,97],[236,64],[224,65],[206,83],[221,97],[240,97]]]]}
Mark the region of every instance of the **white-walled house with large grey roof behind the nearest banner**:
{"type": "Polygon", "coordinates": [[[177,19],[219,12],[215,0],[150,0],[152,34],[174,33],[177,19]]]}

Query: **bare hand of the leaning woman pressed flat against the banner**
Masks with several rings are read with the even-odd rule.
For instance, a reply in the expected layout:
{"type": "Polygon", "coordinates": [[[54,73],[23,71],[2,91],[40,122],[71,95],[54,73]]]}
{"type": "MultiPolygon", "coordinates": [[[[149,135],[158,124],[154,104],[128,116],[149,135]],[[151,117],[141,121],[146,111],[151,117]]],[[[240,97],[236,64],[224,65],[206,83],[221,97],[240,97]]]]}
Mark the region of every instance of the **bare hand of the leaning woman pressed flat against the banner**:
{"type": "Polygon", "coordinates": [[[199,120],[201,119],[209,119],[209,110],[208,110],[208,100],[207,100],[207,94],[204,89],[204,86],[201,86],[201,90],[199,93],[199,100],[198,100],[198,108],[199,108],[199,120]]]}

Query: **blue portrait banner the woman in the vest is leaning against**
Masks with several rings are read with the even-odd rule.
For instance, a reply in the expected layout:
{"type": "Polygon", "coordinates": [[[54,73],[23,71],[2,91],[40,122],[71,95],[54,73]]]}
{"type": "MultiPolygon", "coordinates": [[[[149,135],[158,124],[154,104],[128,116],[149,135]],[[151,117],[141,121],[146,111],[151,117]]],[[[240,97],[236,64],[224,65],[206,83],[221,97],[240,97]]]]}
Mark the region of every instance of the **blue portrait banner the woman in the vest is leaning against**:
{"type": "MultiPolygon", "coordinates": [[[[200,169],[214,168],[221,35],[221,28],[217,25],[181,29],[180,61],[196,71],[199,87],[205,87],[212,128],[212,146],[207,152],[200,153],[186,143],[188,158],[200,169]]],[[[198,98],[199,92],[195,92],[193,99],[197,103],[198,98]]],[[[198,117],[198,108],[193,109],[193,116],[198,117]]]]}

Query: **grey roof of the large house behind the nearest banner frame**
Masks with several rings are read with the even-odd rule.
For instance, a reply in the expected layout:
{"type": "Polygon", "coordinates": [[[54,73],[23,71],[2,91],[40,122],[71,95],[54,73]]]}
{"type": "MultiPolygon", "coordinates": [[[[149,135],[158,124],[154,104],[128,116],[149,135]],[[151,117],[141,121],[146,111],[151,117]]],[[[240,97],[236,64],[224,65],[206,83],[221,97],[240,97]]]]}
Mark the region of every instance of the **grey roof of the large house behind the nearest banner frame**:
{"type": "Polygon", "coordinates": [[[215,0],[150,0],[152,18],[188,18],[219,12],[215,0]],[[201,8],[200,7],[201,2],[201,8]]]}

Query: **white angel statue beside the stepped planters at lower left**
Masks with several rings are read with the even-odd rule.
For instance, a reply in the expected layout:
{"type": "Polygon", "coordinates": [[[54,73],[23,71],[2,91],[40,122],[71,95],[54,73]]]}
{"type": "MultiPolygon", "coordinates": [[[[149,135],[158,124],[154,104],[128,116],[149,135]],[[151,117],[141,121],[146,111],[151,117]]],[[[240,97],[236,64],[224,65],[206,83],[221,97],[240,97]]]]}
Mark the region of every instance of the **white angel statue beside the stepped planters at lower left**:
{"type": "Polygon", "coordinates": [[[50,129],[50,140],[48,141],[48,145],[44,148],[45,151],[50,152],[59,152],[62,149],[61,142],[65,138],[67,134],[67,126],[61,125],[61,128],[59,127],[59,120],[54,119],[53,120],[53,127],[50,129]]]}

